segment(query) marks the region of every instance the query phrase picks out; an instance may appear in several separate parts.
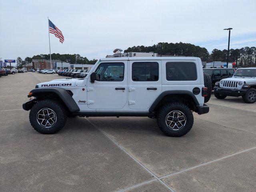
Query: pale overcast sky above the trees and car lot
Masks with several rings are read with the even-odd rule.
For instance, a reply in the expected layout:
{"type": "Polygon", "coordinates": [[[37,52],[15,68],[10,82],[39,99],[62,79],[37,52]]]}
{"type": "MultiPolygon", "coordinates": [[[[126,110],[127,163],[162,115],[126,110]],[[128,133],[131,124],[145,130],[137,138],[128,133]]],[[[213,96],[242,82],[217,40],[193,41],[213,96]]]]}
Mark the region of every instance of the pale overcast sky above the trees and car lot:
{"type": "Polygon", "coordinates": [[[256,46],[256,0],[0,0],[0,57],[23,59],[49,53],[49,19],[64,43],[50,34],[52,53],[89,59],[115,48],[158,42],[208,49],[256,46]]]}

